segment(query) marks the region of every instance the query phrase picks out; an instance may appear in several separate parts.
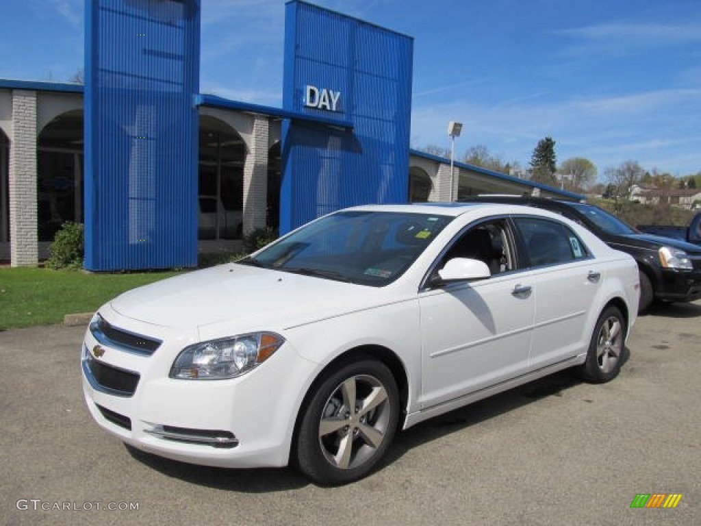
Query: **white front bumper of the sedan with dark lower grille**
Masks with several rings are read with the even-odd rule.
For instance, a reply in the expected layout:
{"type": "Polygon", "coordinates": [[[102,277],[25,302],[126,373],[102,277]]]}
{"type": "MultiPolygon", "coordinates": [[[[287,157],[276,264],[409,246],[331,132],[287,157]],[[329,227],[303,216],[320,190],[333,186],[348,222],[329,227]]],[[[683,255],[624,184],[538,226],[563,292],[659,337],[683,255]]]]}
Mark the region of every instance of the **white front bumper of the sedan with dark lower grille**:
{"type": "MultiPolygon", "coordinates": [[[[103,315],[134,330],[114,311],[103,315]]],[[[170,365],[193,337],[169,336],[163,328],[156,332],[149,336],[163,343],[146,356],[106,346],[88,329],[81,360],[83,393],[95,422],[133,447],[191,464],[285,466],[306,379],[313,377],[315,364],[286,342],[238,378],[172,379],[170,365]]]]}

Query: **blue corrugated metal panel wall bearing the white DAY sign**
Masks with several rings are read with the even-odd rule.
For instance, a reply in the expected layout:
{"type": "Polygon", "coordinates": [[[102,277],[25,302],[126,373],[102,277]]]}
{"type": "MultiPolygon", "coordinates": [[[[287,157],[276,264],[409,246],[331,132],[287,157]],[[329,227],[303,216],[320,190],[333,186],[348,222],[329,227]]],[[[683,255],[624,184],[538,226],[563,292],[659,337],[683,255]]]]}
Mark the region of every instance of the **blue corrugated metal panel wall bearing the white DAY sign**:
{"type": "Polygon", "coordinates": [[[413,46],[362,20],[287,4],[283,106],[353,130],[284,123],[283,233],[346,206],[407,202],[413,46]],[[329,100],[340,93],[335,108],[310,107],[322,90],[329,100]]]}

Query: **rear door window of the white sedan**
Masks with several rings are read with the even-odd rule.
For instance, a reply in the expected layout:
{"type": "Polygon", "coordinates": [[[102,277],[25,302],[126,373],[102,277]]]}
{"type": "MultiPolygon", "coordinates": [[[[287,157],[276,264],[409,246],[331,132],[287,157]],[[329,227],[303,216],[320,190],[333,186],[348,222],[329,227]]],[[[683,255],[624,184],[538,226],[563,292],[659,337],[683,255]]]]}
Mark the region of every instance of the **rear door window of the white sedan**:
{"type": "Polygon", "coordinates": [[[589,257],[584,243],[562,223],[536,217],[516,217],[515,224],[531,267],[564,264],[589,257]]]}

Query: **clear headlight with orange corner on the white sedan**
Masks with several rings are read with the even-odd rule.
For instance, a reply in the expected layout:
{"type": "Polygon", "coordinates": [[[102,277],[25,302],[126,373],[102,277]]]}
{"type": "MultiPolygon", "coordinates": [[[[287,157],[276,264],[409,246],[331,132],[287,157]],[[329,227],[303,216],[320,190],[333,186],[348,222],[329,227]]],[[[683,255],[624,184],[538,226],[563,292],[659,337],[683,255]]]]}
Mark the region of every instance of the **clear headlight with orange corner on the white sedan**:
{"type": "Polygon", "coordinates": [[[243,375],[273,356],[285,339],[273,332],[213,339],[186,347],[170,368],[171,378],[222,380],[243,375]]]}

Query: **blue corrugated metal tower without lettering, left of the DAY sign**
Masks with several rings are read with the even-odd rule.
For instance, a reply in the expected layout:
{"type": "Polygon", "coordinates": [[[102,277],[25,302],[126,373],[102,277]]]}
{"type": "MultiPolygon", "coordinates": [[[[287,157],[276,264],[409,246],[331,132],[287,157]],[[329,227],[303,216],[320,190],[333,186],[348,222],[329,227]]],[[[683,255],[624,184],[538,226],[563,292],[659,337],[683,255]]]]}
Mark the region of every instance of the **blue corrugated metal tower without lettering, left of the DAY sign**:
{"type": "Polygon", "coordinates": [[[197,263],[199,0],[86,0],[86,269],[197,263]]]}

